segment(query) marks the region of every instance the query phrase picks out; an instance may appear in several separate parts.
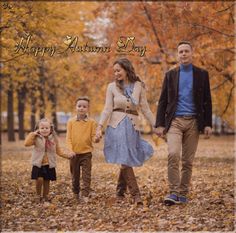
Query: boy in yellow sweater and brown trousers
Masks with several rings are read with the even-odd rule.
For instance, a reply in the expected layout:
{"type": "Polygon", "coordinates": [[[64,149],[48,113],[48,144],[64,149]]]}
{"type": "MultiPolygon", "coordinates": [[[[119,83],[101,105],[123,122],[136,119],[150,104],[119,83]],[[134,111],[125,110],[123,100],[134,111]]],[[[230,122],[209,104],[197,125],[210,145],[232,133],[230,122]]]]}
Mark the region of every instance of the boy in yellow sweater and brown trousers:
{"type": "Polygon", "coordinates": [[[80,168],[82,168],[83,187],[81,196],[87,200],[90,192],[92,143],[99,142],[96,134],[95,120],[88,118],[89,98],[79,97],[76,100],[77,116],[67,123],[66,144],[71,151],[70,171],[72,175],[72,190],[79,200],[80,193],[80,168]]]}

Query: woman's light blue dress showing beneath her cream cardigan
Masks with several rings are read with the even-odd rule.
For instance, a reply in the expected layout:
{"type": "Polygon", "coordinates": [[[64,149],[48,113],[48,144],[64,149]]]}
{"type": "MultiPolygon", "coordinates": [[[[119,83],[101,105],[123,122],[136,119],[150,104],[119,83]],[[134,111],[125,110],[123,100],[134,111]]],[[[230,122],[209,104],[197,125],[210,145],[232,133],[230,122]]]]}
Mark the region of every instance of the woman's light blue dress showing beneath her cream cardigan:
{"type": "MultiPolygon", "coordinates": [[[[125,87],[124,94],[136,105],[132,91],[133,85],[129,85],[125,87]]],[[[154,152],[152,146],[141,138],[140,132],[135,130],[128,116],[116,128],[108,126],[104,140],[104,155],[108,163],[142,166],[154,152]]]]}

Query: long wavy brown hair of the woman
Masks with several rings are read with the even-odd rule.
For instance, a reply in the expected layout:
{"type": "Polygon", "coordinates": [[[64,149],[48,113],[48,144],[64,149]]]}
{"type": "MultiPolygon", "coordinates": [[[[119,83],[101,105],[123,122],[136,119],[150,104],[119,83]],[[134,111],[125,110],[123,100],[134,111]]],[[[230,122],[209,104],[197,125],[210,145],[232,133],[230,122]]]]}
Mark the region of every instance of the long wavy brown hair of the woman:
{"type": "MultiPolygon", "coordinates": [[[[136,81],[142,82],[141,79],[135,74],[134,67],[132,63],[127,58],[119,58],[113,63],[113,66],[119,64],[126,72],[128,81],[130,83],[134,83],[136,81]]],[[[116,85],[123,90],[124,89],[124,81],[116,80],[116,85]]]]}

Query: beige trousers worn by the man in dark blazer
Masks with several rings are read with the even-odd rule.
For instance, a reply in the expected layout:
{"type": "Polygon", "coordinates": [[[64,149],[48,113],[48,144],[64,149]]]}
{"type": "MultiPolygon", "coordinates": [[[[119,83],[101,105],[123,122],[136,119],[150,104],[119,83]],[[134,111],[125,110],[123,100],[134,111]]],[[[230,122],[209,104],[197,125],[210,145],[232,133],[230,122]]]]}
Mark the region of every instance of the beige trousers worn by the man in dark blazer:
{"type": "Polygon", "coordinates": [[[192,175],[193,159],[197,150],[199,131],[193,117],[176,117],[167,133],[168,181],[170,193],[186,196],[192,175]],[[181,157],[182,150],[182,157],[181,157]],[[180,173],[179,163],[182,160],[180,173]]]}

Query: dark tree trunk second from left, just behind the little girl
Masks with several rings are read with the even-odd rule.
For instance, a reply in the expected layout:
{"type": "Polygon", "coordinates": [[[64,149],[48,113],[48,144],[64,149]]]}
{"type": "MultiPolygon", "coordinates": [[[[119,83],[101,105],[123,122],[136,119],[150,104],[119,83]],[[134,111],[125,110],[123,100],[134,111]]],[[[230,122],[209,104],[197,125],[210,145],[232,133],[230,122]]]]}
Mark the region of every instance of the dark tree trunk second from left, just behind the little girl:
{"type": "Polygon", "coordinates": [[[26,86],[24,85],[17,91],[18,95],[18,120],[19,120],[19,139],[25,139],[25,128],[24,128],[24,114],[25,114],[25,99],[26,99],[26,86]]]}

